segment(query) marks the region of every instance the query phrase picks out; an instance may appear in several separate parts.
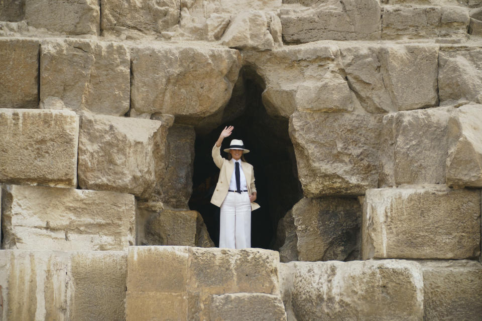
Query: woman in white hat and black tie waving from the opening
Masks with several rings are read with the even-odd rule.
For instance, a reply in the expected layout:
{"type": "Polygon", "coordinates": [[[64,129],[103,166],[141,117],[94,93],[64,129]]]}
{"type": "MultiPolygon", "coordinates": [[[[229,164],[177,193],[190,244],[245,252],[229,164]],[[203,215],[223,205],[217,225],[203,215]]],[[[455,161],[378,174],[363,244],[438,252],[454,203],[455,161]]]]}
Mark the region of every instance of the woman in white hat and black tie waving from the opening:
{"type": "Polygon", "coordinates": [[[251,211],[260,206],[256,203],[256,186],[253,166],[244,161],[243,154],[250,152],[243,141],[231,140],[224,149],[231,157],[221,157],[221,143],[231,135],[233,126],[224,127],[212,147],[212,159],[221,170],[211,203],[221,208],[219,218],[219,247],[251,247],[251,211]]]}

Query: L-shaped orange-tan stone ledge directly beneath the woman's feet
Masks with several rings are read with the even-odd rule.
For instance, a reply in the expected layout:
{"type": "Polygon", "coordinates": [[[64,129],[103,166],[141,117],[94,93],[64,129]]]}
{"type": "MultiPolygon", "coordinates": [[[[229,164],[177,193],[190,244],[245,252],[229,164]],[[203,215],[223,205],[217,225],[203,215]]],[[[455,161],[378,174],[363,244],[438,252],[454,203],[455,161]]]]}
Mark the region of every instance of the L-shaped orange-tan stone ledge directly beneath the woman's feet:
{"type": "Polygon", "coordinates": [[[277,252],[130,247],[127,320],[211,319],[213,294],[279,295],[277,252]]]}

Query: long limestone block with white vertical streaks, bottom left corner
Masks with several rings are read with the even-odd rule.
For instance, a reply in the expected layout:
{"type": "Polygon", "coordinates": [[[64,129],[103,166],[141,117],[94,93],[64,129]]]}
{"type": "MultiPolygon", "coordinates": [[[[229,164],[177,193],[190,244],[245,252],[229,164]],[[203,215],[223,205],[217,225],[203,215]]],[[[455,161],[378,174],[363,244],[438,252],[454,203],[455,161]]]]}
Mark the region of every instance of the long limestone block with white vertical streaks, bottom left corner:
{"type": "Polygon", "coordinates": [[[0,251],[4,320],[125,317],[127,253],[0,251]]]}

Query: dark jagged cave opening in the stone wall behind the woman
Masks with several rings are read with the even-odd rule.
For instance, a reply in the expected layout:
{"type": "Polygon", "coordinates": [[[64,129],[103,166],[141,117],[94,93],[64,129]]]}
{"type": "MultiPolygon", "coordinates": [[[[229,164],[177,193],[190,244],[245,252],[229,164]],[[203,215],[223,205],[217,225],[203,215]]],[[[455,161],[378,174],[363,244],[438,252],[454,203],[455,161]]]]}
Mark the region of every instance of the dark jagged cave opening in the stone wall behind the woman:
{"type": "MultiPolygon", "coordinates": [[[[261,208],[252,213],[252,247],[274,249],[277,244],[278,221],[302,198],[296,170],[293,144],[288,135],[288,119],[268,115],[262,103],[263,85],[246,77],[236,83],[233,95],[222,115],[221,125],[208,131],[196,129],[193,192],[189,208],[201,213],[211,239],[219,245],[219,208],[210,203],[219,169],[214,165],[211,149],[226,125],[233,125],[231,136],[224,139],[222,149],[231,139],[242,139],[250,149],[246,161],[254,166],[257,203],[261,208]]],[[[211,127],[212,128],[212,127],[211,127]]]]}

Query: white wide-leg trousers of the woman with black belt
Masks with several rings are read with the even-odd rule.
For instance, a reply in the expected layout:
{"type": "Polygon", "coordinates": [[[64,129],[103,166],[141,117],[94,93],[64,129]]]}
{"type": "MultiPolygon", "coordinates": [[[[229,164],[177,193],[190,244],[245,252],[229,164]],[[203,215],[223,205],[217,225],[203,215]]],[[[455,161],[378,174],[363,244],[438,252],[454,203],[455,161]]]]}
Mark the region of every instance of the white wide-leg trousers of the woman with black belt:
{"type": "Polygon", "coordinates": [[[251,247],[251,202],[248,192],[227,192],[221,204],[219,247],[251,247]]]}

